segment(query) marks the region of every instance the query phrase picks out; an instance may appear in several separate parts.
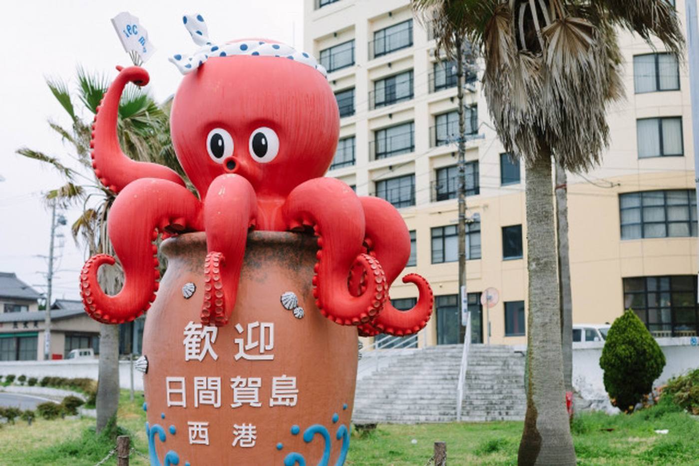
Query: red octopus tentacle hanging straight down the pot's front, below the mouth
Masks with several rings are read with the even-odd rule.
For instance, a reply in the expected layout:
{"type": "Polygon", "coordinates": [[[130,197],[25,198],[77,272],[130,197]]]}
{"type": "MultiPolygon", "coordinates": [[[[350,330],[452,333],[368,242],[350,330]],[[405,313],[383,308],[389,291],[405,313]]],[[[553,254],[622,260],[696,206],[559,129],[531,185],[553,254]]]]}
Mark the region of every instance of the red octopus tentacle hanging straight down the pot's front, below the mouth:
{"type": "Polygon", "coordinates": [[[204,203],[208,254],[204,265],[201,323],[228,323],[238,295],[247,230],[257,219],[254,188],[240,175],[219,175],[209,186],[204,203]]]}

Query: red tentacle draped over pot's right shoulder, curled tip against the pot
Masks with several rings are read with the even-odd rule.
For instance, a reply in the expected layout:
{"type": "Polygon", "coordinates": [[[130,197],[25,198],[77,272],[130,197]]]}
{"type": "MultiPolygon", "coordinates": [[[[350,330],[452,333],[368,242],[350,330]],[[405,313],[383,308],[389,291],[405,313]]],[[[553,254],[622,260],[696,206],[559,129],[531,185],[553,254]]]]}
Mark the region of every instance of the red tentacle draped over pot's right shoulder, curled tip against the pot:
{"type": "Polygon", "coordinates": [[[364,213],[354,191],[334,178],[306,181],[291,191],[282,215],[289,230],[312,226],[318,236],[313,295],[320,312],[342,325],[375,318],[388,298],[386,275],[363,253],[364,213]]]}

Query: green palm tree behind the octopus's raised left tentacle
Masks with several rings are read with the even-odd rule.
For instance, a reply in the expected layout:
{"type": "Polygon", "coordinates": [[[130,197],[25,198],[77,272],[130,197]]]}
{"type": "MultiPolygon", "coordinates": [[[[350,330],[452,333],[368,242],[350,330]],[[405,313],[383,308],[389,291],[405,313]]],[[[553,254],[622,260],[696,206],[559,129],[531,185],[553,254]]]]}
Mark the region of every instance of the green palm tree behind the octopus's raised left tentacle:
{"type": "MultiPolygon", "coordinates": [[[[73,169],[58,157],[52,157],[38,150],[23,147],[17,153],[54,167],[66,183],[49,190],[45,199],[64,208],[82,204],[82,215],[73,223],[71,231],[76,243],[82,243],[89,255],[105,253],[113,255],[111,243],[106,234],[107,216],[115,199],[115,193],[104,188],[94,177],[92,160],[89,155],[92,118],[80,118],[73,101],[78,100],[88,113],[96,114],[96,108],[108,87],[104,76],[89,74],[78,67],[77,95],[71,94],[68,85],[62,80],[47,80],[49,89],[71,120],[70,127],[63,127],[49,120],[48,124],[64,143],[71,146],[71,159],[79,167],[73,169]],[[76,99],[77,97],[77,99],[76,99]]],[[[160,108],[147,93],[134,85],[129,85],[120,101],[117,133],[124,151],[135,160],[159,162],[181,171],[169,145],[168,114],[160,108]]],[[[122,275],[117,267],[102,267],[100,284],[107,292],[115,293],[122,284],[122,275]]],[[[77,278],[76,278],[77,280],[77,278]]],[[[76,281],[77,283],[77,281],[76,281]]],[[[110,418],[117,414],[119,404],[119,326],[100,325],[99,383],[97,391],[97,432],[100,432],[110,418]]]]}

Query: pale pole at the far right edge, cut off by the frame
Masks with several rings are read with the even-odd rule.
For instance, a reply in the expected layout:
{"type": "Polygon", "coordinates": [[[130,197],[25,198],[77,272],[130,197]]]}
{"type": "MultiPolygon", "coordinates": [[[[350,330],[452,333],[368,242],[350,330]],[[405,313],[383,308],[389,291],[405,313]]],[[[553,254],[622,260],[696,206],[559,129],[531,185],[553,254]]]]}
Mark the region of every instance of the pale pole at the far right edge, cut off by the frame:
{"type": "MultiPolygon", "coordinates": [[[[692,104],[692,134],[694,137],[694,183],[699,213],[699,22],[697,1],[686,0],[687,51],[689,52],[689,87],[692,104]]],[[[699,280],[699,274],[698,280],[699,280]]]]}

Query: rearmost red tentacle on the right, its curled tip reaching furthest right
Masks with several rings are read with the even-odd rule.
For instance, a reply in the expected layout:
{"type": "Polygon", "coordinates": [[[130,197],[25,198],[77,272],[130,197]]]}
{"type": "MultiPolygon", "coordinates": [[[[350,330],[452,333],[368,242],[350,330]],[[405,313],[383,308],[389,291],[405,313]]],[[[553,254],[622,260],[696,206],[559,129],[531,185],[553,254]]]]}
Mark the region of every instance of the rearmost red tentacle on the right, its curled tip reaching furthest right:
{"type": "MultiPolygon", "coordinates": [[[[389,202],[378,197],[360,197],[366,218],[366,244],[386,272],[388,285],[401,274],[410,258],[408,227],[389,202]]],[[[396,336],[410,335],[422,330],[432,315],[434,297],[429,283],[417,274],[403,277],[403,283],[415,283],[419,291],[417,304],[408,311],[399,311],[391,302],[370,325],[381,332],[396,336]]]]}

